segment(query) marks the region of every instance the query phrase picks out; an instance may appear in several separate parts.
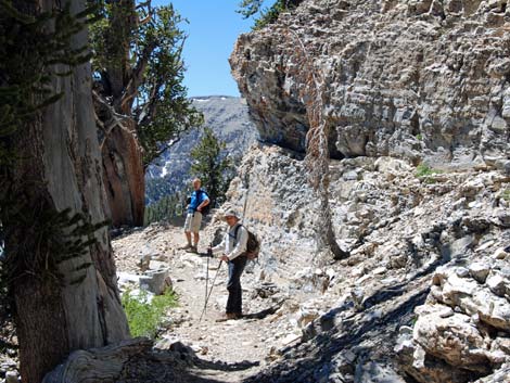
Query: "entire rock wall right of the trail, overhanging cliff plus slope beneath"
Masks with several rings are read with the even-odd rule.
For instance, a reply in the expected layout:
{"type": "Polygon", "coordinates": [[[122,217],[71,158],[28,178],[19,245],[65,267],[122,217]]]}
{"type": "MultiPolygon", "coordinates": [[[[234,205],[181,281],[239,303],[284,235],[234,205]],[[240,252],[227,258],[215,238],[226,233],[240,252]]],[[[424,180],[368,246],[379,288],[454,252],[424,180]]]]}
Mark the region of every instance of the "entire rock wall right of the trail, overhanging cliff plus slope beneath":
{"type": "Polygon", "coordinates": [[[245,157],[229,200],[264,238],[260,281],[301,302],[288,315],[303,331],[254,382],[510,381],[509,12],[304,1],[239,38],[234,77],[278,146],[245,157]],[[302,162],[304,54],[337,159],[330,205],[350,256],[336,263],[316,250],[302,162]]]}

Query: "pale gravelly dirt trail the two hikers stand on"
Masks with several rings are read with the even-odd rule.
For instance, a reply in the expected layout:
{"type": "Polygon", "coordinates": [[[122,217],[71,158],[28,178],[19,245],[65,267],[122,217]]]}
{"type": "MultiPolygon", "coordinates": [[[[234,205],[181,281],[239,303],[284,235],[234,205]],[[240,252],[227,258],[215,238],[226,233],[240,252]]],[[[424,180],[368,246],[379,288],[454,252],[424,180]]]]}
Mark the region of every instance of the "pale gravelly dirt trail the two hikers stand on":
{"type": "MultiPolygon", "coordinates": [[[[268,331],[275,325],[278,315],[264,317],[260,311],[271,307],[270,299],[251,297],[253,293],[250,285],[255,281],[255,275],[244,272],[243,310],[246,318],[216,322],[224,310],[227,301],[227,265],[219,260],[208,259],[208,288],[211,289],[215,275],[216,282],[209,297],[207,310],[200,321],[205,302],[207,256],[206,243],[209,237],[204,231],[199,246],[202,254],[191,254],[179,250],[183,243],[183,233],[180,227],[169,226],[162,230],[158,228],[151,232],[144,230],[131,233],[113,241],[118,271],[136,272],[140,246],[150,246],[160,252],[165,264],[170,268],[170,278],[174,290],[179,295],[179,307],[168,311],[170,325],[156,341],[160,348],[169,348],[175,342],[181,342],[191,347],[195,355],[204,361],[195,375],[202,376],[200,381],[240,382],[253,375],[266,363],[265,358],[270,354],[275,340],[268,331]],[[267,302],[266,302],[267,301],[267,302]],[[264,318],[253,318],[263,316],[264,318]],[[202,380],[205,379],[205,380],[202,380]]],[[[248,267],[250,269],[250,267],[248,267]]]]}

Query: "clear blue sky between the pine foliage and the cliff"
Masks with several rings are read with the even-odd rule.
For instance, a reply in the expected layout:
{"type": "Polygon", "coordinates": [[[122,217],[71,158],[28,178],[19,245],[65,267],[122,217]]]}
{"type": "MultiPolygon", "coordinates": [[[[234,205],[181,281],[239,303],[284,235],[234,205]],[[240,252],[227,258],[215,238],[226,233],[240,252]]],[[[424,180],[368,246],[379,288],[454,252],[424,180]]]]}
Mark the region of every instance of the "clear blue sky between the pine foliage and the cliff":
{"type": "MultiPolygon", "coordinates": [[[[168,4],[155,0],[154,4],[168,4]]],[[[189,24],[181,28],[188,34],[184,43],[187,66],[184,85],[189,97],[239,95],[230,75],[228,58],[237,37],[250,31],[253,20],[243,20],[235,13],[240,0],[174,0],[174,8],[189,24]]]]}

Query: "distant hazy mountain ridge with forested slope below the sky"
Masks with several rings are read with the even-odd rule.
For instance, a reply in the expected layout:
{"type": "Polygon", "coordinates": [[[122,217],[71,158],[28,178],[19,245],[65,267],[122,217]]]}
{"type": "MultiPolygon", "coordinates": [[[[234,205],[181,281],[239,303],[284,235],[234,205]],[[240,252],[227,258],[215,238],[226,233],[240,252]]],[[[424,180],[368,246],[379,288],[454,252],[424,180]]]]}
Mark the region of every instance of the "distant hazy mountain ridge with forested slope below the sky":
{"type": "MultiPolygon", "coordinates": [[[[241,157],[259,136],[250,120],[244,99],[229,95],[192,98],[193,105],[204,114],[204,127],[227,143],[227,155],[241,157]]],[[[190,180],[190,152],[202,137],[202,128],[187,132],[178,142],[149,166],[145,182],[145,204],[183,190],[190,180]]]]}

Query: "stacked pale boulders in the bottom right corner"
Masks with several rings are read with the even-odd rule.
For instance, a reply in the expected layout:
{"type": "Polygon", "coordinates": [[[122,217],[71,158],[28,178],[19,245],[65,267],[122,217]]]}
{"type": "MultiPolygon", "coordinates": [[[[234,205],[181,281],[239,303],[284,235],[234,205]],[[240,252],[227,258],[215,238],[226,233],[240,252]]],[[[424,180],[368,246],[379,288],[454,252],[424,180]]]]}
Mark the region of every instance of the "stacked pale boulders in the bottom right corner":
{"type": "Polygon", "coordinates": [[[425,379],[431,374],[428,357],[442,360],[446,370],[480,374],[510,361],[508,257],[510,253],[497,248],[468,267],[442,267],[434,272],[428,303],[415,310],[412,336],[404,335],[397,344],[401,357],[412,360],[406,370],[419,382],[430,381],[425,379]],[[480,278],[481,270],[485,278],[480,278]]]}

